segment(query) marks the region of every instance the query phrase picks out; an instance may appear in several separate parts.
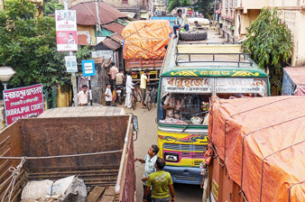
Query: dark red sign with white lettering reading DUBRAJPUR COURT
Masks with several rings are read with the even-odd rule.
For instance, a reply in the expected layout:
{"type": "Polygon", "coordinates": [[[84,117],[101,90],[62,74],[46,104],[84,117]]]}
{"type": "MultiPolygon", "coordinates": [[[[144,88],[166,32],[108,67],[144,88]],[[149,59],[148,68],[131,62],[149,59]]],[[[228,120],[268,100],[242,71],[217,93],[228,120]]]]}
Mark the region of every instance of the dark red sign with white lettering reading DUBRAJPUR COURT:
{"type": "Polygon", "coordinates": [[[42,84],[4,90],[6,124],[43,113],[42,84]]]}

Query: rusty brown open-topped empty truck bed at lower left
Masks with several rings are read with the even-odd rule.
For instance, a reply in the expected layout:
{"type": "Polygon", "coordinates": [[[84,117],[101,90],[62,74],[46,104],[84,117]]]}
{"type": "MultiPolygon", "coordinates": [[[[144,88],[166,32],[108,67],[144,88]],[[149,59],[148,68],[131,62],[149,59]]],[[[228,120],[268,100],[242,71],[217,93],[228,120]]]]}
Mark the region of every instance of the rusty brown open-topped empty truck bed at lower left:
{"type": "Polygon", "coordinates": [[[1,200],[20,201],[32,180],[77,175],[88,201],[135,201],[135,128],[136,116],[114,106],[60,107],[19,119],[0,133],[1,200]]]}

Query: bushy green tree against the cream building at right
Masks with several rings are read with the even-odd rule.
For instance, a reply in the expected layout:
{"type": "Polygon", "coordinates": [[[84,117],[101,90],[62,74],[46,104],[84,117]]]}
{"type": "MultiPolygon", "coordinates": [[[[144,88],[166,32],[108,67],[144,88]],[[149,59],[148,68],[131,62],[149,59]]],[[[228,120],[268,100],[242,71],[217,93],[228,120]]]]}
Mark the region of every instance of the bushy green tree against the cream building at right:
{"type": "Polygon", "coordinates": [[[252,53],[252,59],[260,68],[269,72],[273,89],[282,88],[282,67],[291,59],[293,43],[291,31],[281,22],[281,12],[274,8],[263,7],[261,14],[246,28],[246,50],[252,53]]]}

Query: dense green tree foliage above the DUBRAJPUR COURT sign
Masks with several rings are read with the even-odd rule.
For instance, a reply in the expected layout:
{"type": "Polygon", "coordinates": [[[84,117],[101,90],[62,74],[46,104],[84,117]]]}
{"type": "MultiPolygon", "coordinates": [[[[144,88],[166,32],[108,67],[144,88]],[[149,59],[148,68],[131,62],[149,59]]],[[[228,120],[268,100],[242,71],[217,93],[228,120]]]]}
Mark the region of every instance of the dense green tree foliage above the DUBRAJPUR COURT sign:
{"type": "MultiPolygon", "coordinates": [[[[55,19],[33,19],[35,13],[29,0],[5,2],[5,11],[0,12],[0,64],[16,71],[8,87],[42,83],[44,91],[51,93],[54,85],[70,84],[64,62],[69,53],[56,50],[55,19]]],[[[78,62],[87,60],[90,50],[79,48],[76,56],[78,62]]]]}

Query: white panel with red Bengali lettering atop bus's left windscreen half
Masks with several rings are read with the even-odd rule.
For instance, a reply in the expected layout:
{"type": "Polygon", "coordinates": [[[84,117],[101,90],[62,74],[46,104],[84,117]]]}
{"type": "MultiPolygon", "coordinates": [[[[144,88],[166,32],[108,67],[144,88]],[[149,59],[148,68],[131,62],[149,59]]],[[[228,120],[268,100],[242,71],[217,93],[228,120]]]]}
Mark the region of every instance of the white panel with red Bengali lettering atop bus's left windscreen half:
{"type": "Polygon", "coordinates": [[[162,96],[173,92],[212,93],[211,78],[163,78],[162,96]]]}

